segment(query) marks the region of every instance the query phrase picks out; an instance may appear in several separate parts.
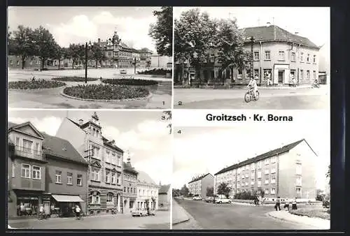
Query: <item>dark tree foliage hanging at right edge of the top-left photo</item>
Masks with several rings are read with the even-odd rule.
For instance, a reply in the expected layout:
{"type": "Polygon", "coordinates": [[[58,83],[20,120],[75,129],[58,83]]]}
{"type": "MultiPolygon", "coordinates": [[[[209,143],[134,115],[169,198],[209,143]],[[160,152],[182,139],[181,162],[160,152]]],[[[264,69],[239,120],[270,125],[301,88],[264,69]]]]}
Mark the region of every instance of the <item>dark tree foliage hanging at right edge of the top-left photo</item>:
{"type": "Polygon", "coordinates": [[[150,25],[148,35],[155,40],[158,54],[172,57],[173,8],[162,6],[162,10],[153,11],[157,22],[150,25]]]}

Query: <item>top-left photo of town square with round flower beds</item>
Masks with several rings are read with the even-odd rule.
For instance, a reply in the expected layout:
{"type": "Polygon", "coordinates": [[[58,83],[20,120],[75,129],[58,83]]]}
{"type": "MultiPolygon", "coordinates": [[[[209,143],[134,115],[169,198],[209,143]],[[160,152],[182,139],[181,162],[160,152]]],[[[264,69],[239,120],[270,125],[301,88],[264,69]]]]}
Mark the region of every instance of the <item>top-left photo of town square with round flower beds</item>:
{"type": "Polygon", "coordinates": [[[172,108],[172,7],[8,8],[8,107],[172,108]]]}

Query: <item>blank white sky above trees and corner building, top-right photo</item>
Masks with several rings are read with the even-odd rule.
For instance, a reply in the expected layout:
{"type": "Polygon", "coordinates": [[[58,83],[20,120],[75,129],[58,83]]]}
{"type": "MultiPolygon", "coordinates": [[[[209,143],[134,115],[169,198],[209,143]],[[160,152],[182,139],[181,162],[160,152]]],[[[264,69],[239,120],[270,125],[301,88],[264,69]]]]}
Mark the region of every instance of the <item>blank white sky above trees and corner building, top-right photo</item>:
{"type": "MultiPolygon", "coordinates": [[[[175,7],[174,18],[189,7],[175,7]]],[[[290,33],[299,32],[316,45],[330,43],[330,8],[326,7],[201,7],[209,17],[236,17],[239,28],[258,27],[267,22],[290,33]]]]}

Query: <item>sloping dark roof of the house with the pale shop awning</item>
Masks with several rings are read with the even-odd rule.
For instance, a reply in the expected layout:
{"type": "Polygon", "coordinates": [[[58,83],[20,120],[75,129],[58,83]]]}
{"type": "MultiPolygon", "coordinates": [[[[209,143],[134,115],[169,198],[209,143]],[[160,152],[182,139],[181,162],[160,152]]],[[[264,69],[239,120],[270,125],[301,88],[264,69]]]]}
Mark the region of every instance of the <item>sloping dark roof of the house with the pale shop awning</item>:
{"type": "Polygon", "coordinates": [[[51,136],[47,133],[43,133],[43,137],[43,152],[45,154],[87,165],[83,156],[78,153],[68,140],[51,136]]]}

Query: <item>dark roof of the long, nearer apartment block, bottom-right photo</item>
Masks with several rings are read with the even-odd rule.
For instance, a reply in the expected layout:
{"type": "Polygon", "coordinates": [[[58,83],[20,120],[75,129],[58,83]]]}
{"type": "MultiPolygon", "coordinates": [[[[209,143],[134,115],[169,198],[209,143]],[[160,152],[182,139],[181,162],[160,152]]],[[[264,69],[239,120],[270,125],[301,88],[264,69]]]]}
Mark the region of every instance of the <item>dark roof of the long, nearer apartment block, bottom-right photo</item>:
{"type": "MultiPolygon", "coordinates": [[[[306,140],[304,140],[304,139],[299,140],[299,141],[297,141],[297,142],[292,142],[292,143],[290,143],[289,145],[285,145],[285,146],[283,146],[283,147],[279,147],[279,148],[274,149],[274,150],[272,150],[272,151],[265,152],[264,154],[261,154],[261,155],[259,155],[259,156],[255,156],[255,157],[253,157],[253,158],[249,158],[249,159],[246,160],[246,161],[241,161],[240,163],[237,163],[237,164],[235,164],[235,165],[231,165],[231,166],[229,166],[229,167],[227,167],[227,168],[223,168],[222,170],[220,170],[219,172],[217,172],[215,175],[221,174],[221,173],[223,173],[223,172],[227,172],[227,171],[229,171],[229,170],[234,170],[234,169],[239,168],[239,167],[241,167],[241,166],[244,166],[244,165],[247,165],[247,164],[250,164],[250,163],[254,163],[255,161],[261,161],[261,160],[263,160],[263,159],[265,159],[265,158],[268,158],[268,157],[271,157],[271,156],[276,156],[276,155],[279,155],[279,154],[283,154],[284,152],[288,152],[290,149],[293,149],[295,146],[297,146],[298,144],[300,144],[300,142],[302,142],[302,141],[305,141],[305,142],[306,142],[306,140]]],[[[306,142],[306,143],[307,143],[307,142],[306,142]]],[[[309,145],[309,144],[307,143],[307,145],[309,145]]],[[[310,147],[310,145],[309,145],[309,147],[310,147]]],[[[310,147],[310,149],[311,149],[311,147],[310,147]]],[[[311,150],[312,150],[312,149],[311,149],[311,150]]],[[[314,150],[312,150],[312,152],[314,152],[314,150]]],[[[315,152],[314,152],[314,153],[315,153],[315,152]]],[[[316,154],[316,153],[315,153],[315,154],[316,154]]],[[[316,154],[316,156],[317,156],[317,154],[316,154]]]]}

